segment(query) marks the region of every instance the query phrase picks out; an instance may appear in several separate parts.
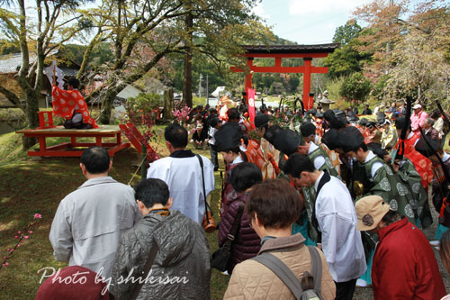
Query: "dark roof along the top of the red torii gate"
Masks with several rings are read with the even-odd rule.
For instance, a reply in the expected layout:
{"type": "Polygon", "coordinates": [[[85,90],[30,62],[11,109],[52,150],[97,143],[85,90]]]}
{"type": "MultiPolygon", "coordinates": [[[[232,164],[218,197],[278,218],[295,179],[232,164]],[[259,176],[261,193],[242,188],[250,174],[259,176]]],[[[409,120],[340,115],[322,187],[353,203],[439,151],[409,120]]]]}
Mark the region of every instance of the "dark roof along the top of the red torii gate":
{"type": "Polygon", "coordinates": [[[339,43],[318,45],[241,45],[247,53],[330,53],[340,46],[339,43]]]}

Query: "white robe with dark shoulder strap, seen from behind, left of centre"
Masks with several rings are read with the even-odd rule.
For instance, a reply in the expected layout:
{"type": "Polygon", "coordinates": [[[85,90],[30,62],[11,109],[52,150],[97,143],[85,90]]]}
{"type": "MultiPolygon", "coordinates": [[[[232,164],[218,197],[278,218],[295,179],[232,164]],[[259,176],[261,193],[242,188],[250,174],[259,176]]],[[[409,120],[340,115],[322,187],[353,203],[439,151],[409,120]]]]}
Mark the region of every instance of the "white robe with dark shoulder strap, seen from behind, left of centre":
{"type": "MultiPolygon", "coordinates": [[[[204,188],[206,195],[214,190],[214,166],[210,159],[202,156],[204,188]]],[[[171,210],[180,211],[194,222],[202,224],[204,198],[202,169],[197,157],[157,159],[148,168],[148,178],[166,182],[170,196],[174,199],[171,210]]]]}

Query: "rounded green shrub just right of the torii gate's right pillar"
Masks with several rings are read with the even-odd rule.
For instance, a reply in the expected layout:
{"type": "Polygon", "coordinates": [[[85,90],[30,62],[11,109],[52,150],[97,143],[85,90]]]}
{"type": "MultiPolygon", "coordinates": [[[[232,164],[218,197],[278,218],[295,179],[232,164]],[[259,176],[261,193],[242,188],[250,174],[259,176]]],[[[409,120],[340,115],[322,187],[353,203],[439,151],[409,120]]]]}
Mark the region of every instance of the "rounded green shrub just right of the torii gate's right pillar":
{"type": "Polygon", "coordinates": [[[372,83],[361,73],[354,73],[344,80],[341,86],[340,95],[347,102],[359,100],[365,101],[372,89],[372,83]]]}

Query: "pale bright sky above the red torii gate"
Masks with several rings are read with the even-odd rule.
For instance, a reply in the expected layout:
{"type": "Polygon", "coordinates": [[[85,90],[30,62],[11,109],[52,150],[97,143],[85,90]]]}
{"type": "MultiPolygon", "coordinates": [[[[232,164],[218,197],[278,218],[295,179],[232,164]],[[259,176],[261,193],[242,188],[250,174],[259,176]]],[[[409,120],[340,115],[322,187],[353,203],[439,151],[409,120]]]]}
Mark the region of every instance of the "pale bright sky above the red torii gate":
{"type": "Polygon", "coordinates": [[[369,0],[262,0],[254,11],[281,38],[299,44],[332,42],[338,26],[369,0]]]}

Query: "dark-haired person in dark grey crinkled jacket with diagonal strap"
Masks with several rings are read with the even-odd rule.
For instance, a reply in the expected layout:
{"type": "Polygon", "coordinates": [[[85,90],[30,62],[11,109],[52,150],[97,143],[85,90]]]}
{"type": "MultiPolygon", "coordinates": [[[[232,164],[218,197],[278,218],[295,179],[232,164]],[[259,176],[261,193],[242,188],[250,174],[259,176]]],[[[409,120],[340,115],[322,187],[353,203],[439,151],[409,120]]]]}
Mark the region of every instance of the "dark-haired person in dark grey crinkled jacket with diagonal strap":
{"type": "Polygon", "coordinates": [[[202,227],[178,211],[166,183],[148,178],[135,186],[144,216],[125,232],[112,268],[110,291],[129,299],[133,282],[142,282],[138,299],[210,299],[210,249],[202,227]],[[152,247],[157,256],[146,277],[143,269],[152,247]]]}

